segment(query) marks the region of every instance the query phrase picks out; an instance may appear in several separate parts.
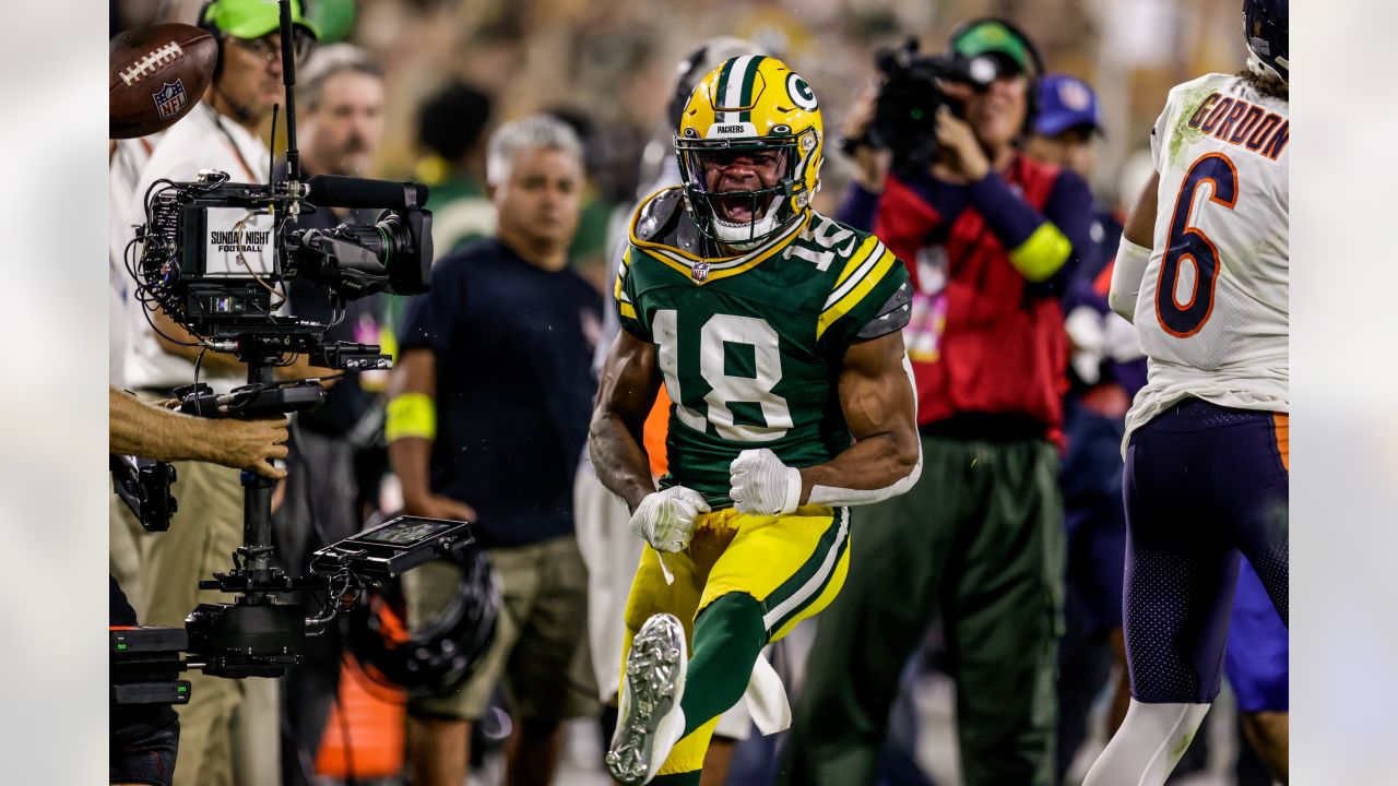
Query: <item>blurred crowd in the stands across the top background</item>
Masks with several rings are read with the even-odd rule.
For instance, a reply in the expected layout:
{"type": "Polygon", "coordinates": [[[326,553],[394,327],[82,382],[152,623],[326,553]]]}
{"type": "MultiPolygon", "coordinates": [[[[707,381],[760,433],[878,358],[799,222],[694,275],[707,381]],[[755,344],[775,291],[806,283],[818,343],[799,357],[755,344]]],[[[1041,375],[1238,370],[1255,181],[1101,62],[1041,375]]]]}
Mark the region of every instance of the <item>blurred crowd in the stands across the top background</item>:
{"type": "MultiPolygon", "coordinates": [[[[199,7],[199,0],[113,0],[112,32],[190,21],[199,7]]],[[[484,180],[492,127],[540,110],[572,122],[586,144],[589,175],[572,259],[598,287],[608,280],[607,221],[654,179],[646,169],[671,155],[647,151],[647,143],[668,134],[660,124],[675,64],[706,38],[745,38],[783,57],[818,85],[835,129],[874,81],[879,48],[916,35],[923,52],[935,53],[959,21],[1015,20],[1050,71],[1078,76],[1097,91],[1104,133],[1092,185],[1106,206],[1120,203],[1123,176],[1144,180],[1139,154],[1169,88],[1234,70],[1239,52],[1237,10],[1209,0],[808,0],[795,13],[774,0],[319,0],[308,4],[308,15],[322,27],[322,43],[352,42],[383,67],[384,138],[368,176],[412,178],[450,193],[463,180],[484,180]],[[473,92],[457,92],[446,102],[450,109],[442,108],[443,122],[463,133],[424,129],[424,105],[453,85],[487,101],[473,105],[473,92]]],[[[833,214],[849,178],[849,162],[828,155],[816,208],[833,214]]],[[[442,203],[439,196],[431,207],[442,203]]]]}

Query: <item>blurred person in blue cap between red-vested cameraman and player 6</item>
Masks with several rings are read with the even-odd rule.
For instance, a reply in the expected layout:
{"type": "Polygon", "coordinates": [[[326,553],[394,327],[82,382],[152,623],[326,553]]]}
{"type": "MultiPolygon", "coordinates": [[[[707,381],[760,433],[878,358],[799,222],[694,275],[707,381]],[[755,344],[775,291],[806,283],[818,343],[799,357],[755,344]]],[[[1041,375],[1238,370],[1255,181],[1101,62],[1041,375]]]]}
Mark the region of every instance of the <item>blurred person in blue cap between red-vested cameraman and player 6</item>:
{"type": "MultiPolygon", "coordinates": [[[[1068,74],[1039,83],[1039,116],[1026,151],[1046,164],[1092,178],[1093,140],[1102,133],[1097,95],[1068,74]]],[[[1135,329],[1107,308],[1111,260],[1124,217],[1093,207],[1092,242],[1064,298],[1071,341],[1064,397],[1064,522],[1068,572],[1064,636],[1058,643],[1058,778],[1086,738],[1088,712],[1116,673],[1109,734],[1125,717],[1130,685],[1121,636],[1125,510],[1121,506],[1121,435],[1131,397],[1145,383],[1145,355],[1135,329]]]]}

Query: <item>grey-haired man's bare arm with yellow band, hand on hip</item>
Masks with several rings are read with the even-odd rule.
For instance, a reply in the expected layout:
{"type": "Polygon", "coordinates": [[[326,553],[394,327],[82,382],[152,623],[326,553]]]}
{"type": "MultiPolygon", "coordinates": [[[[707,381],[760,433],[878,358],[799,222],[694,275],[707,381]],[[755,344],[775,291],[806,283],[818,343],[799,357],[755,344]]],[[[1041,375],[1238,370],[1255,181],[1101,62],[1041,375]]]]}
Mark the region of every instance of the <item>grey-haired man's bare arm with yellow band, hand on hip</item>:
{"type": "Polygon", "coordinates": [[[403,483],[403,508],[429,519],[473,520],[470,505],[432,494],[428,467],[436,436],[436,355],[408,350],[389,378],[389,459],[403,483]]]}

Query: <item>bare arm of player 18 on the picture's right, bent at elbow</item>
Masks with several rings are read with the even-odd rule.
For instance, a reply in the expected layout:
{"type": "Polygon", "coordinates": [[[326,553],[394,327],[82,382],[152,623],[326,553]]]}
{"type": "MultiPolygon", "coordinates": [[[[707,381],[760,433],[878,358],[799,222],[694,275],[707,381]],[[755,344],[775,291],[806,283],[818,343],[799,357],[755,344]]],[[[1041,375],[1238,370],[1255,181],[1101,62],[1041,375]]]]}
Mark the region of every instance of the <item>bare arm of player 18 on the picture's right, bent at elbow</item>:
{"type": "Polygon", "coordinates": [[[913,382],[903,366],[899,331],[853,344],[840,368],[840,408],[854,445],[826,462],[801,470],[801,503],[811,490],[882,490],[907,478],[921,457],[913,382]]]}

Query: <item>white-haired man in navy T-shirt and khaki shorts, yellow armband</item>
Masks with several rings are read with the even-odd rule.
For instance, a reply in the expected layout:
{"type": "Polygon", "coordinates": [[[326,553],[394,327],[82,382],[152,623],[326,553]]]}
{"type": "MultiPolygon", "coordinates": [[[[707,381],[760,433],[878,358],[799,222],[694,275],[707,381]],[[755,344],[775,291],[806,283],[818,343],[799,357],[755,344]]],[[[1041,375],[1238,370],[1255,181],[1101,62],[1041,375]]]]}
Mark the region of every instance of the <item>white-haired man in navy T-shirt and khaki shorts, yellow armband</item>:
{"type": "MultiPolygon", "coordinates": [[[[464,782],[471,723],[502,678],[513,785],[549,783],[559,724],[600,709],[572,494],[601,324],[597,291],[568,266],[582,144],[554,117],[507,123],[491,137],[487,180],[495,235],[438,260],[432,291],[408,303],[389,385],[404,512],[475,522],[503,592],[470,680],[410,705],[421,786],[464,782]]],[[[442,562],[405,576],[410,625],[446,606],[456,582],[442,562]]]]}

